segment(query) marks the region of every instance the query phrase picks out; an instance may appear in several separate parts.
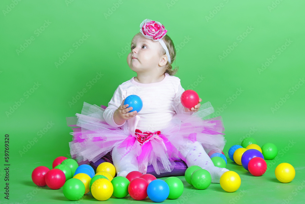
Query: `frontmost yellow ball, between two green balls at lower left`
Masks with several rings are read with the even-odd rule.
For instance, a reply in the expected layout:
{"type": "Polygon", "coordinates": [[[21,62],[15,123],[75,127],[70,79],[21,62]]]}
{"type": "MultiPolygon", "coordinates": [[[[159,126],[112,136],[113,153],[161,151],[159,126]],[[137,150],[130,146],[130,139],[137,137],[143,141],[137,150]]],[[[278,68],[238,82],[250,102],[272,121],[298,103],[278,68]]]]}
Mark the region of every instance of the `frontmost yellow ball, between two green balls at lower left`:
{"type": "Polygon", "coordinates": [[[97,200],[104,201],[113,194],[113,185],[106,178],[99,178],[91,186],[91,194],[97,200]]]}

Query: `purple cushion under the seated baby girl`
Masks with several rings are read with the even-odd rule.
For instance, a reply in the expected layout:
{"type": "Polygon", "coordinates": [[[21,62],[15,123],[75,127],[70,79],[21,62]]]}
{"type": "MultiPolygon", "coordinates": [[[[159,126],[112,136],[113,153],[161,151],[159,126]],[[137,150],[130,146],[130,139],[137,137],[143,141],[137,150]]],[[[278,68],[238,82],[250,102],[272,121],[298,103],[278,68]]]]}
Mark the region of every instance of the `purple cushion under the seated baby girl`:
{"type": "MultiPolygon", "coordinates": [[[[103,162],[109,162],[112,163],[112,157],[110,152],[108,152],[105,156],[103,156],[101,159],[97,160],[96,162],[91,162],[90,165],[93,167],[93,169],[96,171],[96,168],[103,162]]],[[[159,162],[159,161],[158,161],[159,162]]],[[[188,168],[186,163],[182,160],[175,161],[175,167],[171,172],[161,173],[157,174],[153,168],[152,165],[147,166],[147,174],[152,174],[156,178],[160,177],[169,177],[169,176],[184,176],[185,170],[188,168]]]]}

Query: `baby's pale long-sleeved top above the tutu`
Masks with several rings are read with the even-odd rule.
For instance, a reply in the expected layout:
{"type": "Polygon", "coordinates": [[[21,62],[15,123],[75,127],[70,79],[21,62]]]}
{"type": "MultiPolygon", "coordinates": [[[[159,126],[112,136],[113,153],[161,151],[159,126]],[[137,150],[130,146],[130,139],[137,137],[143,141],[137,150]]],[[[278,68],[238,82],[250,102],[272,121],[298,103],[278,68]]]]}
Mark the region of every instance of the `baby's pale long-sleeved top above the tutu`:
{"type": "MultiPolygon", "coordinates": [[[[134,126],[134,130],[136,128],[141,131],[154,132],[167,127],[167,123],[177,113],[191,114],[185,112],[180,102],[180,96],[185,90],[178,77],[165,73],[162,81],[150,84],[138,83],[134,78],[119,85],[108,103],[103,116],[109,125],[113,127],[123,125],[127,128],[134,126]],[[125,121],[122,125],[118,125],[113,120],[113,113],[129,95],[138,95],[142,99],[143,108],[138,116],[135,116],[137,119],[133,117],[128,120],[128,123],[125,121]]],[[[134,130],[131,131],[131,134],[134,134],[134,130]]]]}

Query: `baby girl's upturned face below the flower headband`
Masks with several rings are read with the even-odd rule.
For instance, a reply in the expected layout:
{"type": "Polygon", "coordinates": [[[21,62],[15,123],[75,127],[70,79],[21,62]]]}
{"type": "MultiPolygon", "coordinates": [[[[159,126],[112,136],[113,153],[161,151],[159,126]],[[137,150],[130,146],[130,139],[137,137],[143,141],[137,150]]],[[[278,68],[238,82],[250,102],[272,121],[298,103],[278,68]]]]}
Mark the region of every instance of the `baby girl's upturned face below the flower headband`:
{"type": "Polygon", "coordinates": [[[161,60],[162,45],[158,41],[136,34],[131,41],[131,52],[127,56],[127,64],[135,72],[155,71],[161,60]]]}

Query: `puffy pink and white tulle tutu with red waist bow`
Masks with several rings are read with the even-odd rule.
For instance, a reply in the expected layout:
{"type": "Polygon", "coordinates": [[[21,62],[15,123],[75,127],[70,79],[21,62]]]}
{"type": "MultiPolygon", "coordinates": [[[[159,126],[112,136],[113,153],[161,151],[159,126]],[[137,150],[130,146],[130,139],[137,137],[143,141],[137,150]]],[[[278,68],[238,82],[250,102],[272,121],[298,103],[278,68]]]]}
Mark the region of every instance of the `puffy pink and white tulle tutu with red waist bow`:
{"type": "Polygon", "coordinates": [[[84,102],[81,114],[66,118],[67,125],[73,129],[70,154],[80,164],[96,162],[116,147],[122,157],[130,152],[135,154],[142,173],[151,164],[160,174],[172,171],[177,159],[185,161],[183,155],[187,154],[189,141],[198,141],[206,153],[221,152],[226,142],[221,116],[203,120],[214,112],[210,102],[202,104],[192,115],[176,114],[162,131],[136,130],[135,135],[130,135],[123,126],[107,124],[103,118],[105,109],[106,106],[84,102]]]}

